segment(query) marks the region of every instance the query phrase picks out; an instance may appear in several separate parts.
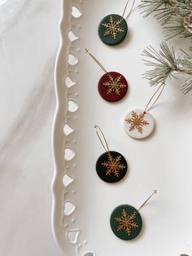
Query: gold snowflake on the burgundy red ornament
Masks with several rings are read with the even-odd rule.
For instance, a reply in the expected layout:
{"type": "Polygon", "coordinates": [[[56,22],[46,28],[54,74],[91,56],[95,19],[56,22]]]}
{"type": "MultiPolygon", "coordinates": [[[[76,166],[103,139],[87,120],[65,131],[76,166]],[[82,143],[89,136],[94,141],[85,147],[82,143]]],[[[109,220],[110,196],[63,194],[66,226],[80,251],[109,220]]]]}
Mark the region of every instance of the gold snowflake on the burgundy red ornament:
{"type": "Polygon", "coordinates": [[[124,83],[121,82],[122,76],[113,77],[110,73],[108,74],[109,81],[103,82],[103,86],[107,88],[107,94],[115,92],[116,95],[120,95],[120,89],[126,87],[124,83]]]}

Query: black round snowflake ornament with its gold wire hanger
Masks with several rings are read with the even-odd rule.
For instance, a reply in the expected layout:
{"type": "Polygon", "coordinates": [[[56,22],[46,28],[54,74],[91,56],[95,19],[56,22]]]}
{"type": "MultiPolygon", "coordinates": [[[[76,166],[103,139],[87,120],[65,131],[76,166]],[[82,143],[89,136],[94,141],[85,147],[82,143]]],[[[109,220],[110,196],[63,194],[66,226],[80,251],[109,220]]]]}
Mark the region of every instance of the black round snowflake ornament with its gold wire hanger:
{"type": "Polygon", "coordinates": [[[98,139],[106,150],[106,152],[98,157],[98,161],[96,162],[98,177],[107,183],[117,183],[121,179],[124,179],[124,176],[127,173],[127,161],[119,152],[110,151],[102,130],[98,126],[94,126],[94,128],[96,129],[98,139]],[[101,138],[101,135],[103,139],[101,138]]]}

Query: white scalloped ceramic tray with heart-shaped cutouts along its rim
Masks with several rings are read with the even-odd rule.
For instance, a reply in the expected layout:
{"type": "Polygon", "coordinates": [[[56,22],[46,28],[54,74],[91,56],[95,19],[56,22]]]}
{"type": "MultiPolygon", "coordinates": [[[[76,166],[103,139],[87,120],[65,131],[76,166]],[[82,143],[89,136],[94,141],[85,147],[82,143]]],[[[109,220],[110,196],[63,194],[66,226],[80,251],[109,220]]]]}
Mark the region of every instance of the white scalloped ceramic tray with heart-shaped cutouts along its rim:
{"type": "Polygon", "coordinates": [[[124,116],[145,107],[154,92],[142,79],[142,50],[163,40],[156,21],[144,20],[135,8],[124,42],[103,44],[98,38],[100,20],[110,13],[122,15],[125,2],[63,1],[53,130],[55,240],[66,256],[192,255],[192,99],[181,94],[179,82],[166,86],[151,109],[153,135],[136,140],[125,134],[124,116]],[[103,70],[85,55],[85,47],[107,70],[127,78],[129,94],[119,103],[107,103],[98,95],[103,70]],[[109,148],[128,161],[129,172],[120,183],[98,179],[95,163],[104,151],[95,124],[102,128],[109,148]],[[111,211],[121,204],[137,208],[153,189],[158,195],[140,212],[140,236],[119,240],[111,232],[111,211]]]}

